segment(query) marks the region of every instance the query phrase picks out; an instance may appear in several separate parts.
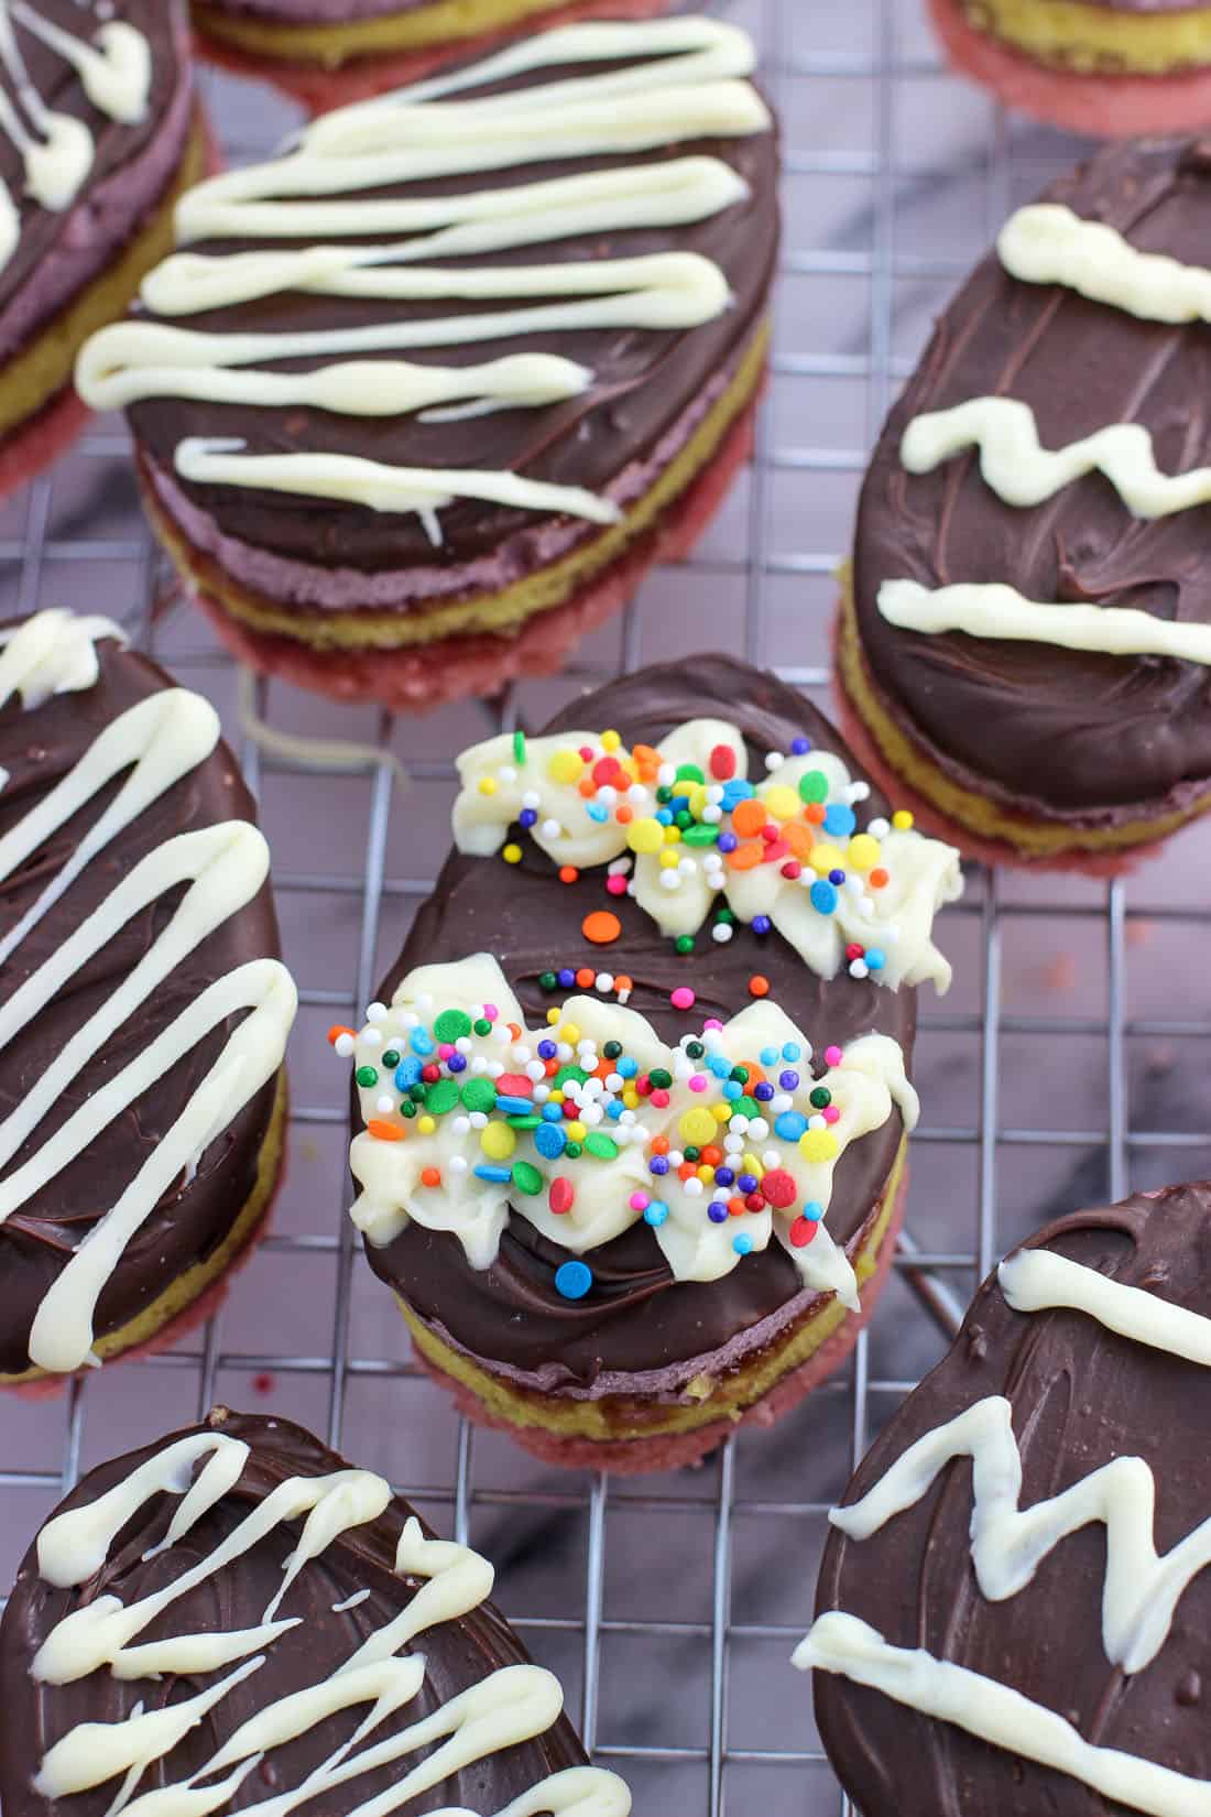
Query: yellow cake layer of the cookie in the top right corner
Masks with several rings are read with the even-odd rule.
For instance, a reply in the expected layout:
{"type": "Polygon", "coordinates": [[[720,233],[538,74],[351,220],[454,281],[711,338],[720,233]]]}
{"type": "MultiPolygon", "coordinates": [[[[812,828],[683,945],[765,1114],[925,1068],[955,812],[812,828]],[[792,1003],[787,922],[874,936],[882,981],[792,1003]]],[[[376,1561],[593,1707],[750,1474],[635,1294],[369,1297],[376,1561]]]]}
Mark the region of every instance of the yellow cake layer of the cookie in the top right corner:
{"type": "Polygon", "coordinates": [[[1211,64],[1211,7],[1115,13],[1082,0],[960,0],[975,31],[1077,74],[1164,76],[1211,64]]]}

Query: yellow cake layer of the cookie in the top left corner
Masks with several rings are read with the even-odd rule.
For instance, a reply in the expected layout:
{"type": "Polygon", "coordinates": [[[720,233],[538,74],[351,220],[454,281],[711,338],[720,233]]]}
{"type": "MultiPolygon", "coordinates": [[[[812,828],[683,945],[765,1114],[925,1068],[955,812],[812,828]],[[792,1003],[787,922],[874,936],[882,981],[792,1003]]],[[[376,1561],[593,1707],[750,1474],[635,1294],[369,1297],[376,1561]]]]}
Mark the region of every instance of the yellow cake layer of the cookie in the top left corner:
{"type": "Polygon", "coordinates": [[[76,354],[89,334],[103,329],[109,322],[122,320],[147,273],[172,251],[172,211],[176,198],[191,184],[205,176],[205,134],[198,122],[191,133],[172,187],[156,205],[154,214],[143,222],[134,238],[114,258],[113,265],[105,265],[4,367],[4,385],[0,385],[0,436],[16,429],[27,418],[36,416],[51,398],[56,398],[71,383],[76,354]]]}

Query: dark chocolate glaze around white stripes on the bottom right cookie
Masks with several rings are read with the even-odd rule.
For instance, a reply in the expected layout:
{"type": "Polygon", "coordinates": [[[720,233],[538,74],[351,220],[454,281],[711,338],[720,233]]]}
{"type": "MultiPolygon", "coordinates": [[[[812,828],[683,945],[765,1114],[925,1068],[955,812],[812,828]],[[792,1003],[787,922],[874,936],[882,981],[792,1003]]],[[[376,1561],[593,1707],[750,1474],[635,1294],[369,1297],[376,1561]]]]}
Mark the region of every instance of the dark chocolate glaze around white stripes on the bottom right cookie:
{"type": "MultiPolygon", "coordinates": [[[[1029,1239],[1071,1261],[1211,1316],[1211,1183],[1169,1187],[1077,1212],[1029,1239]]],[[[1211,1374],[1118,1337],[1080,1312],[1017,1314],[993,1274],[950,1355],[884,1430],[844,1503],[857,1501],[915,1439],[984,1395],[1006,1395],[1022,1454],[1020,1506],[1062,1494],[1113,1457],[1142,1457],[1157,1479],[1155,1544],[1164,1555],[1211,1508],[1211,1374]]],[[[817,1613],[841,1608],[893,1646],[924,1646],[986,1673],[1122,1748],[1211,1779],[1202,1701],[1211,1574],[1184,1590],[1151,1664],[1124,1677],[1102,1643],[1106,1530],[1062,1539],[1033,1583],[1004,1603],[977,1588],[968,1550],[971,1466],[948,1465],[919,1503],[870,1539],[833,1530],[817,1613]]],[[[815,1673],[815,1713],[837,1773],[866,1817],[1109,1817],[1078,1779],[1035,1766],[844,1677],[815,1673]]]]}

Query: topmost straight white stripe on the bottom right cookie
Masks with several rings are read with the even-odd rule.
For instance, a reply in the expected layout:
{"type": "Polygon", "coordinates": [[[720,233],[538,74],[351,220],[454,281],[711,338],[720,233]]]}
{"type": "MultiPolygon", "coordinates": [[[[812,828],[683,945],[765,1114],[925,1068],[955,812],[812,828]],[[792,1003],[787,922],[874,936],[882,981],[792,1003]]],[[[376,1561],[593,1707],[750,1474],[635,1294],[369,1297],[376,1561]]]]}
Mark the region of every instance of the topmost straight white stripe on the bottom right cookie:
{"type": "Polygon", "coordinates": [[[997,1281],[1015,1312],[1058,1306],[1086,1312],[1108,1332],[1211,1368],[1211,1319],[1142,1286],[1084,1268],[1055,1250],[1017,1250],[997,1268],[997,1281]]]}

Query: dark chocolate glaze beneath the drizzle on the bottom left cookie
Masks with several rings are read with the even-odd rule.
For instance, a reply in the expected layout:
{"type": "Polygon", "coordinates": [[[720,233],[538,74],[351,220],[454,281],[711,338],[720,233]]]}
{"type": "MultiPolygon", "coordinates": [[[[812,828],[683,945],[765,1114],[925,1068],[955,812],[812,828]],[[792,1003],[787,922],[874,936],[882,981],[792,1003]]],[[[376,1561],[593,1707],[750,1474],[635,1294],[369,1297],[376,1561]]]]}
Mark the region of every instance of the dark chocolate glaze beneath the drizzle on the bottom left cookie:
{"type": "MultiPolygon", "coordinates": [[[[33,1775],[47,1748],[76,1723],[120,1723],[131,1715],[136,1703],[147,1710],[163,1708],[182,1695],[194,1695],[202,1683],[165,1677],[127,1681],[109,1672],[93,1672],[74,1684],[38,1684],[31,1661],[51,1628],[85,1601],[116,1595],[131,1604],[172,1583],[227,1539],[249,1512],[287,1477],[323,1475],[345,1470],[349,1465],[327,1450],[301,1426],[287,1419],[265,1419],[252,1414],[229,1414],[218,1408],[209,1426],[252,1446],[243,1474],[232,1490],[198,1521],[192,1532],[160,1557],[145,1554],[156,1546],[180,1504],[176,1495],[156,1495],[133,1519],[123,1537],[111,1548],[107,1564],[78,1590],[56,1590],[38,1575],[36,1548],[31,1546],[22,1563],[13,1597],[0,1624],[0,1697],[4,1699],[4,1728],[0,1733],[0,1801],[5,1817],[51,1817],[64,1812],[33,1790],[33,1775]]],[[[205,1430],[191,1428],[194,1432],[205,1430]]],[[[62,1503],[58,1512],[94,1501],[105,1490],[123,1483],[133,1470],[185,1434],[118,1457],[93,1470],[62,1503]]],[[[403,1501],[392,1501],[385,1514],[369,1524],[341,1534],[325,1552],[310,1561],[290,1586],[283,1615],[301,1617],[307,1644],[298,1635],[285,1635],[265,1650],[265,1664],[249,1681],[227,1693],[223,1703],[176,1746],[167,1762],[147,1768],[140,1792],[185,1779],[222,1746],[256,1710],[292,1692],[321,1683],[332,1673],[374,1628],[385,1626],[405,1608],[419,1579],[396,1577],[394,1557],[403,1523],[412,1510],[403,1501]],[[332,1610],[359,1590],[369,1590],[356,1608],[345,1613],[332,1610]],[[292,1644],[294,1643],[294,1644],[292,1644]]],[[[256,1546],[245,1552],[218,1577],[209,1579],[185,1595],[153,1626],[145,1639],[165,1633],[225,1632],[254,1628],[272,1595],[281,1588],[281,1561],[298,1539],[300,1523],[278,1526],[256,1546]]],[[[430,1530],[425,1528],[432,1537],[430,1530]]],[[[401,1717],[383,1724],[378,1739],[394,1733],[409,1723],[430,1715],[450,1697],[481,1683],[499,1666],[525,1663],[527,1653],[517,1637],[490,1603],[472,1610],[461,1621],[441,1623],[416,1643],[425,1653],[425,1681],[401,1717]]],[[[203,1683],[211,1683],[207,1677],[203,1683]]],[[[320,1728],[298,1741],[274,1748],[260,1768],[240,1786],[225,1810],[245,1810],[298,1784],[325,1761],[358,1723],[365,1706],[332,1715],[320,1728]]],[[[583,1766],[585,1753],[572,1733],[566,1717],[534,1741],[507,1748],[476,1761],[454,1779],[445,1781],[428,1795],[410,1799],[401,1806],[401,1817],[421,1817],[423,1812],[450,1806],[476,1812],[496,1812],[521,1792],[566,1766],[583,1766]]],[[[323,1801],[323,1817],[343,1817],[345,1812],[374,1799],[401,1777],[401,1768],[383,1766],[363,1773],[323,1801]]],[[[67,1804],[73,1817],[103,1817],[113,1802],[114,1782],[94,1792],[73,1795],[67,1804]]],[[[310,1806],[309,1806],[310,1808],[310,1806]]]]}

